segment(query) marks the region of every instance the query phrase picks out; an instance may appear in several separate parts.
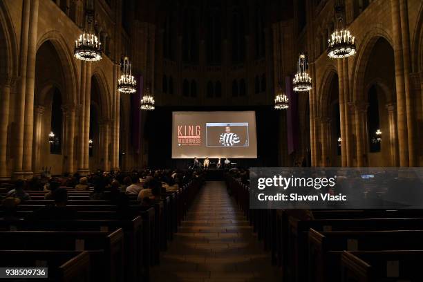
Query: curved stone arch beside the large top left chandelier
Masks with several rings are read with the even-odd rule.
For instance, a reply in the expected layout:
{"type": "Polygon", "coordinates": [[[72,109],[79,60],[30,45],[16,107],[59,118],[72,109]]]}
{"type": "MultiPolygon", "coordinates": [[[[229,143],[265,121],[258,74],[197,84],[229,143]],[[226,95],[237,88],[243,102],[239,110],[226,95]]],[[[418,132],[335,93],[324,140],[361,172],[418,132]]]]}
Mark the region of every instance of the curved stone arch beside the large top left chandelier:
{"type": "Polygon", "coordinates": [[[77,104],[77,93],[79,90],[78,71],[75,59],[72,55],[73,52],[69,48],[70,45],[60,32],[57,30],[50,30],[39,37],[37,50],[39,50],[46,41],[50,41],[50,43],[53,44],[62,65],[65,84],[64,89],[66,90],[64,92],[65,99],[63,102],[65,104],[77,104]]]}

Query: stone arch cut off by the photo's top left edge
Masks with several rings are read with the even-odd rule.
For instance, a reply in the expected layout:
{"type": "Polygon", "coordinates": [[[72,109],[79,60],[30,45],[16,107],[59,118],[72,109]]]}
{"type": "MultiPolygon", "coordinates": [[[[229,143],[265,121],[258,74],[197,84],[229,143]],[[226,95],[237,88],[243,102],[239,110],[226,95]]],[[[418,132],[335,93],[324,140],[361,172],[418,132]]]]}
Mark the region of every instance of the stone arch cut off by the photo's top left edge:
{"type": "Polygon", "coordinates": [[[4,1],[0,1],[0,76],[16,77],[19,73],[19,54],[15,28],[4,1]]]}

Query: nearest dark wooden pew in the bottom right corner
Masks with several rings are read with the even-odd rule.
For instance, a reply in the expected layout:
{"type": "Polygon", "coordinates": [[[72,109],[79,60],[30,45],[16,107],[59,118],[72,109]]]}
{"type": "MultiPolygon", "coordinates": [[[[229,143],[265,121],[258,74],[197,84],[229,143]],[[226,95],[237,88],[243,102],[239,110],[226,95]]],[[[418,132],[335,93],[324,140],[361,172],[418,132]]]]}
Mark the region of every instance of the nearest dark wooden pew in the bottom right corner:
{"type": "Polygon", "coordinates": [[[346,252],[341,256],[344,282],[422,281],[422,250],[346,252]]]}

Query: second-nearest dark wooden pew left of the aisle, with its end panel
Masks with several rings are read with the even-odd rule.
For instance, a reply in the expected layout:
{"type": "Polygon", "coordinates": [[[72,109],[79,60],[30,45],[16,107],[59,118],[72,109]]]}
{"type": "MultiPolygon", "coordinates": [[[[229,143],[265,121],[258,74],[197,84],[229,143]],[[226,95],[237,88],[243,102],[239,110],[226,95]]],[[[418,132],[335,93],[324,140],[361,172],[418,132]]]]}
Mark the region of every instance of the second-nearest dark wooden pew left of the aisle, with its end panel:
{"type": "Polygon", "coordinates": [[[92,260],[102,264],[98,281],[124,281],[122,229],[115,232],[1,231],[0,238],[0,250],[104,250],[104,255],[92,260]]]}

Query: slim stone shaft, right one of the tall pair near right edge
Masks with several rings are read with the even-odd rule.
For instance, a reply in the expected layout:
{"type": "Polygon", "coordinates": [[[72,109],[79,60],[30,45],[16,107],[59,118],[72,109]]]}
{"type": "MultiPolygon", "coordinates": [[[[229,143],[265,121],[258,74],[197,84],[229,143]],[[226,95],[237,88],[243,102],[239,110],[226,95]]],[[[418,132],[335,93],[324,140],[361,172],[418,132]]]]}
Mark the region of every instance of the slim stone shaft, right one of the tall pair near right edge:
{"type": "Polygon", "coordinates": [[[406,99],[406,120],[408,135],[408,165],[417,165],[417,153],[415,151],[415,111],[411,86],[411,48],[410,48],[410,28],[408,26],[407,0],[400,0],[400,19],[402,36],[402,57],[404,60],[404,91],[406,99]]]}

